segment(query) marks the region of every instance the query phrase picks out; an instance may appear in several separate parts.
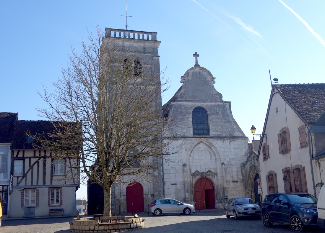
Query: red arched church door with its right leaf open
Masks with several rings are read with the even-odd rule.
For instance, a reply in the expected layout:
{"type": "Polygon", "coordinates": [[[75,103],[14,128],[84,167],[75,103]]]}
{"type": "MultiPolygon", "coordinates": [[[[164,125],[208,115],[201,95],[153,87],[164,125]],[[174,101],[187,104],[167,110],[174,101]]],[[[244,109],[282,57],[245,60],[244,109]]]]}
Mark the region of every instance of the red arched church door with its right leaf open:
{"type": "Polygon", "coordinates": [[[194,184],[194,202],[196,209],[214,209],[214,186],[211,180],[202,177],[194,184]],[[205,204],[205,206],[204,206],[205,204]]]}

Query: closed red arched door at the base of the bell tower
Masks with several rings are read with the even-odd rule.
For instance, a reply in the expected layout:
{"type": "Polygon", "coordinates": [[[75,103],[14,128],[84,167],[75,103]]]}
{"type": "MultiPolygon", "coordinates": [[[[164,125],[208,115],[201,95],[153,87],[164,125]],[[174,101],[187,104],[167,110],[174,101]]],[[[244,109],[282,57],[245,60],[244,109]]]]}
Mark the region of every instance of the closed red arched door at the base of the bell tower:
{"type": "Polygon", "coordinates": [[[140,183],[132,182],[126,187],[126,213],[142,212],[144,212],[143,188],[140,183]]]}

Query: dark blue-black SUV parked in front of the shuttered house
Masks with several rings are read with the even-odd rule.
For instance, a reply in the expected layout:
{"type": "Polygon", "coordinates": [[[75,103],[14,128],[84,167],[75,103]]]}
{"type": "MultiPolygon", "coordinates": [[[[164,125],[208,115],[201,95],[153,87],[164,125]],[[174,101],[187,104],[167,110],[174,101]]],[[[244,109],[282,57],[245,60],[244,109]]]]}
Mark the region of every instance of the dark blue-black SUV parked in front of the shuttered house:
{"type": "Polygon", "coordinates": [[[284,223],[299,232],[305,226],[317,226],[317,198],[308,193],[271,193],[261,207],[265,227],[272,227],[274,222],[284,223]]]}

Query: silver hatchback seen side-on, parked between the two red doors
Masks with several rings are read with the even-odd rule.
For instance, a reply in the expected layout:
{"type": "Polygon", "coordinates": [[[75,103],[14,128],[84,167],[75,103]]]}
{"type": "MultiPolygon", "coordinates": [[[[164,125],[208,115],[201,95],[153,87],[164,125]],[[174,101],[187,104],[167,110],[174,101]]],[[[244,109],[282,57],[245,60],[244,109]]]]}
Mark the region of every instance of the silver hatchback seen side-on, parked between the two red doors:
{"type": "Polygon", "coordinates": [[[195,213],[194,205],[186,204],[175,199],[164,198],[156,199],[149,205],[148,212],[152,215],[180,213],[189,215],[195,213]]]}

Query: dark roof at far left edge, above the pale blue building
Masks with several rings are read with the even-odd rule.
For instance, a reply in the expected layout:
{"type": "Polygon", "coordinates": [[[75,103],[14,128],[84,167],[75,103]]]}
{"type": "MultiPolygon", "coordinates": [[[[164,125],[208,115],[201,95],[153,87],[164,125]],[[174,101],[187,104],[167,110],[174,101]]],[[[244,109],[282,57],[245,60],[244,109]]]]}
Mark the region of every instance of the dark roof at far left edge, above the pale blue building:
{"type": "Polygon", "coordinates": [[[16,120],[18,120],[18,113],[0,112],[0,143],[11,142],[16,120]]]}

